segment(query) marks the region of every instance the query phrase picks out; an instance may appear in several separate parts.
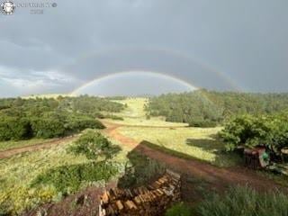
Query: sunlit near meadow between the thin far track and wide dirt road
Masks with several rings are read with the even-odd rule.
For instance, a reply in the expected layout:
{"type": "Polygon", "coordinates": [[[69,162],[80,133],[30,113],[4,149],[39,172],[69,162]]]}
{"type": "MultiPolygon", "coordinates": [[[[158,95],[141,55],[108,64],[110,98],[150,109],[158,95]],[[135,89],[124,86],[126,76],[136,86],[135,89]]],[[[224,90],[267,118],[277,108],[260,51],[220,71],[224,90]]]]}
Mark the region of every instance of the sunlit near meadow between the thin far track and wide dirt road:
{"type": "Polygon", "coordinates": [[[235,166],[240,162],[240,157],[225,152],[224,144],[217,139],[220,128],[121,127],[118,130],[139,142],[146,140],[153,143],[157,149],[176,157],[193,157],[215,166],[235,166]]]}

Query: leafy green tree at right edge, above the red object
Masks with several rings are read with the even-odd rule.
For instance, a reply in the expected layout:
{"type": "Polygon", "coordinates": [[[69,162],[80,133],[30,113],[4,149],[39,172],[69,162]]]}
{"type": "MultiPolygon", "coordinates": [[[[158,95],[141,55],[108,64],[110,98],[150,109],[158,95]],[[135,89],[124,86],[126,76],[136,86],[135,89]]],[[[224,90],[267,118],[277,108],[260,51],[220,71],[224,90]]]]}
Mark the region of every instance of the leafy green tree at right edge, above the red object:
{"type": "Polygon", "coordinates": [[[228,150],[240,145],[250,148],[262,145],[280,155],[281,149],[288,147],[288,115],[240,116],[225,125],[220,137],[227,143],[228,150]]]}

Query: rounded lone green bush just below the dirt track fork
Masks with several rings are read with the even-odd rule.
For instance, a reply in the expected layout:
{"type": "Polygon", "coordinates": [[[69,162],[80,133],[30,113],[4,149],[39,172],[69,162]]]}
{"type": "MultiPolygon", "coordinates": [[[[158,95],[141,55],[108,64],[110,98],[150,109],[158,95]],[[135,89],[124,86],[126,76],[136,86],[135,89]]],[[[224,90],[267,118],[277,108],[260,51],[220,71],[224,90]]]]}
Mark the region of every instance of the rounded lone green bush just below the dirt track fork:
{"type": "Polygon", "coordinates": [[[103,137],[100,132],[86,130],[69,148],[69,151],[76,155],[85,155],[88,159],[112,158],[120,151],[118,146],[103,137]]]}

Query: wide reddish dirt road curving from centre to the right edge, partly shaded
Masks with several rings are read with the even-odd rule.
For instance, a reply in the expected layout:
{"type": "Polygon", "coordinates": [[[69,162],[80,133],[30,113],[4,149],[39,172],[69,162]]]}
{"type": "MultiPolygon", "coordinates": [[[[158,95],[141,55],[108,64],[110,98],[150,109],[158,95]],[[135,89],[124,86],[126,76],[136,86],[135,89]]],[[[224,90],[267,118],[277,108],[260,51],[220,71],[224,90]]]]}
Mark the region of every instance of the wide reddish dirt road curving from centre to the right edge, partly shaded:
{"type": "Polygon", "coordinates": [[[244,167],[220,168],[198,160],[174,157],[156,149],[149,148],[148,146],[141,145],[136,140],[122,135],[117,130],[121,127],[119,124],[108,122],[104,122],[104,124],[107,127],[107,129],[104,130],[105,133],[113,139],[117,139],[123,145],[134,148],[134,150],[137,150],[150,158],[164,162],[167,166],[170,166],[177,172],[202,178],[216,187],[226,187],[232,184],[249,184],[259,190],[275,188],[286,190],[283,186],[275,184],[274,181],[257,175],[253,170],[244,167]]]}

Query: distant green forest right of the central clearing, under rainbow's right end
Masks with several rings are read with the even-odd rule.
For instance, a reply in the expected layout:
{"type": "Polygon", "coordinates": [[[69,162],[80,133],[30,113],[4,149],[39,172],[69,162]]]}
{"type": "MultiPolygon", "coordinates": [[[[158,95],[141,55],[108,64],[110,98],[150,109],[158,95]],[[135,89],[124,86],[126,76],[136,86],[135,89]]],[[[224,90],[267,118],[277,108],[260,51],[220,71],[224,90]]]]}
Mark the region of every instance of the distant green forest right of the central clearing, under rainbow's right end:
{"type": "Polygon", "coordinates": [[[195,127],[213,127],[240,114],[264,114],[288,109],[288,94],[245,94],[198,90],[152,97],[148,116],[165,116],[166,121],[187,122],[195,127]]]}

